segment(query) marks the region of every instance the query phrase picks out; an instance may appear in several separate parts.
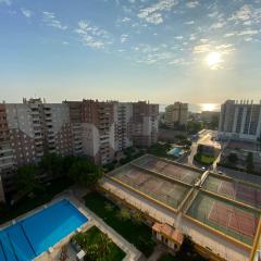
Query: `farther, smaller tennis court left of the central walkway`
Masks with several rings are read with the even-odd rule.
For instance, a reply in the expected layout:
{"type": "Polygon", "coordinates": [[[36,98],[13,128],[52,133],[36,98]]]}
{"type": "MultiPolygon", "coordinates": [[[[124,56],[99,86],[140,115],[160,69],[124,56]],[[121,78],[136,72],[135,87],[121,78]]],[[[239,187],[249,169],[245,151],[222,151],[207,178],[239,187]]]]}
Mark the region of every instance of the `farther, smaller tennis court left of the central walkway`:
{"type": "Polygon", "coordinates": [[[172,163],[150,154],[146,154],[135,160],[134,163],[149,171],[164,174],[189,185],[194,184],[195,181],[202,174],[200,171],[198,172],[186,166],[181,166],[174,162],[172,163]]]}

